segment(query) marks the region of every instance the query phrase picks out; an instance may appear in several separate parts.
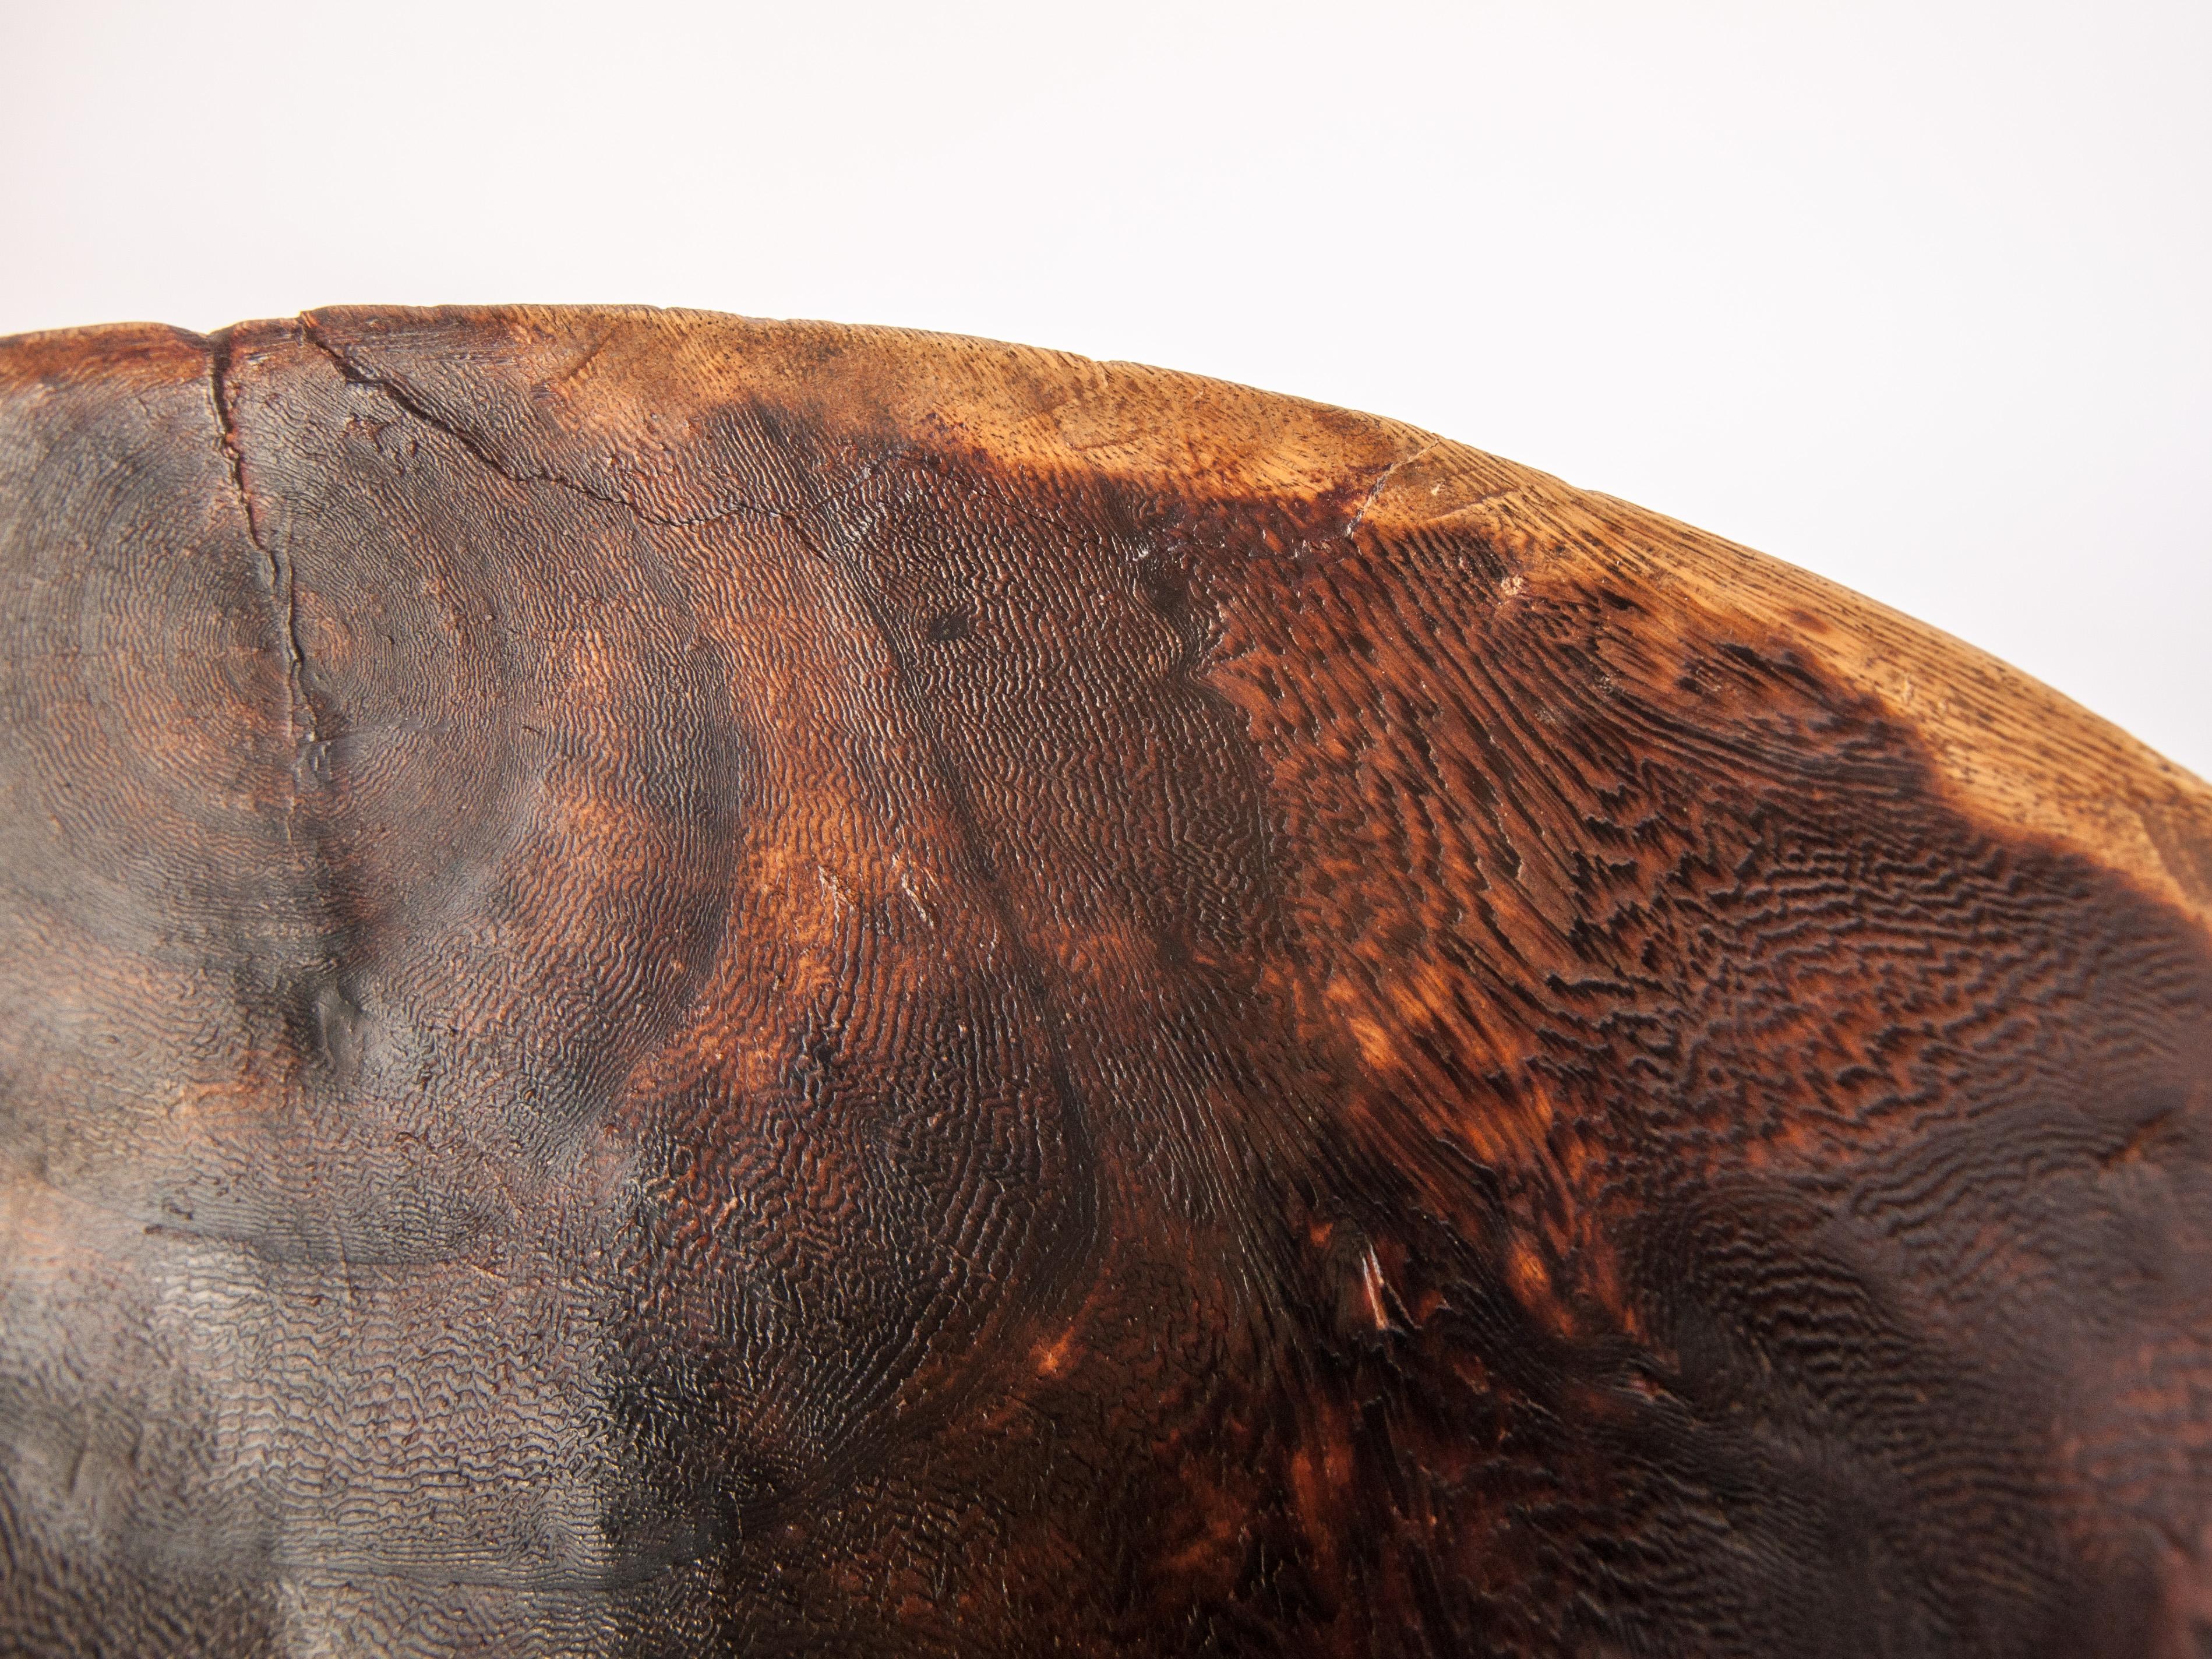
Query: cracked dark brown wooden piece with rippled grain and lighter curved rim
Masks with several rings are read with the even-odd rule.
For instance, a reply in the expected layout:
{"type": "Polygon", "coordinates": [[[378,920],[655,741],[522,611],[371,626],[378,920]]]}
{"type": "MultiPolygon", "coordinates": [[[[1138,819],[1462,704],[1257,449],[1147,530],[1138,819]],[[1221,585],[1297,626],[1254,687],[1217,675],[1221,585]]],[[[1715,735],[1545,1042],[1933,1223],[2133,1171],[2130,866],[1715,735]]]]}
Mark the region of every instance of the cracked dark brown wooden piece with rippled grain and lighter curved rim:
{"type": "Polygon", "coordinates": [[[2212,1644],[2212,792],[980,341],[0,345],[0,1648],[2212,1644]]]}

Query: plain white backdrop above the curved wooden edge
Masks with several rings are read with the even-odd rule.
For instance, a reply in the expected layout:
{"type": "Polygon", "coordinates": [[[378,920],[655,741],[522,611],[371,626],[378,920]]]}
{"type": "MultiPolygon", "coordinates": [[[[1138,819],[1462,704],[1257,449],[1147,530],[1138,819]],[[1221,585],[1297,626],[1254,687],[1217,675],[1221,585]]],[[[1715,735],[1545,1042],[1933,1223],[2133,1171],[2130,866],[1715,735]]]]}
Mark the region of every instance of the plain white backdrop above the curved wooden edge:
{"type": "Polygon", "coordinates": [[[650,301],[1433,427],[2212,774],[2212,4],[0,0],[0,334],[650,301]]]}

